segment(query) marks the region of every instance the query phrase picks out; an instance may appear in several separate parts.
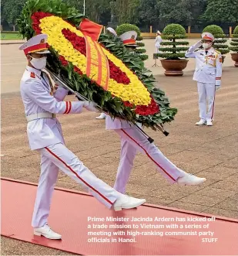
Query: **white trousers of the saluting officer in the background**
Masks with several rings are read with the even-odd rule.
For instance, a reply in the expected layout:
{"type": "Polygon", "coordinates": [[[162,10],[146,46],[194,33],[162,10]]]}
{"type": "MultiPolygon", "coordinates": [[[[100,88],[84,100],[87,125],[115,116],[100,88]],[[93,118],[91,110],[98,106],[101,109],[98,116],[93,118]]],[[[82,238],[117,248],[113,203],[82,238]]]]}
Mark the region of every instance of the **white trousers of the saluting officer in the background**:
{"type": "Polygon", "coordinates": [[[199,117],[206,121],[213,121],[216,95],[215,84],[198,82],[197,90],[199,93],[199,117]]]}

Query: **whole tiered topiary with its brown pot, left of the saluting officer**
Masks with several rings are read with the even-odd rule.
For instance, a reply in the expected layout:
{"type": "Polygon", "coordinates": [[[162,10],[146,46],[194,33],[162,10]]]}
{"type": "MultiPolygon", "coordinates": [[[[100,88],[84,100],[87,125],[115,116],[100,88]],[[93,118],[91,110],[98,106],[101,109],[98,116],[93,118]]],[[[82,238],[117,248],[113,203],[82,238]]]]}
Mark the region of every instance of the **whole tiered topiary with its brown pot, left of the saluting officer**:
{"type": "Polygon", "coordinates": [[[163,58],[160,60],[162,67],[166,70],[166,76],[183,76],[183,70],[189,60],[181,59],[185,57],[185,52],[189,47],[189,42],[177,41],[177,39],[185,39],[186,30],[179,24],[169,24],[163,29],[162,39],[166,40],[161,43],[156,56],[163,58]]]}

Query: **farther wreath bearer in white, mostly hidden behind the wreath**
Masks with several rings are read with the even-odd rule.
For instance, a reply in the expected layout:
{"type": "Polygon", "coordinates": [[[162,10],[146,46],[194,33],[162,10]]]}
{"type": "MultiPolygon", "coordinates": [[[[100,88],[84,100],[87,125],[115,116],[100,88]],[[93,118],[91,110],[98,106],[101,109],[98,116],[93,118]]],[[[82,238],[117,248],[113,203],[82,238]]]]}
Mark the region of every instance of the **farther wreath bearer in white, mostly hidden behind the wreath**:
{"type": "MultiPolygon", "coordinates": [[[[122,42],[126,47],[136,49],[135,31],[129,31],[121,36],[122,42]]],[[[141,124],[138,124],[141,127],[141,124]]],[[[169,183],[177,183],[180,185],[199,185],[206,181],[205,178],[192,176],[184,172],[170,162],[169,159],[160,152],[159,148],[153,143],[149,143],[148,139],[128,121],[118,118],[112,119],[106,116],[106,129],[115,130],[121,138],[121,155],[119,167],[116,175],[114,188],[120,193],[126,193],[126,184],[129,180],[130,172],[133,168],[133,162],[136,158],[136,152],[147,155],[155,164],[156,169],[160,172],[169,183]]]]}

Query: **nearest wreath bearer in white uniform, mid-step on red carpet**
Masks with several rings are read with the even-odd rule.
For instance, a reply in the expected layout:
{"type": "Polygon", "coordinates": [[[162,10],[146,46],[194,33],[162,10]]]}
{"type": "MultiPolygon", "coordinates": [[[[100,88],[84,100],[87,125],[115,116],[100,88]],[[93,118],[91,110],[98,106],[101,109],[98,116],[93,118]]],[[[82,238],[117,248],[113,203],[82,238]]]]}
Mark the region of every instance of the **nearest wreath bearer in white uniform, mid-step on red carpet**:
{"type": "Polygon", "coordinates": [[[35,235],[49,239],[61,239],[47,224],[52,193],[59,169],[77,183],[89,189],[89,193],[106,207],[114,210],[138,207],[146,200],[139,200],[118,193],[98,179],[79,158],[65,147],[62,128],[55,114],[81,113],[83,108],[96,111],[89,101],[62,101],[68,90],[54,90],[51,81],[42,72],[46,65],[47,36],[38,35],[29,39],[20,49],[24,50],[28,66],[21,80],[22,101],[28,121],[27,133],[30,148],[41,154],[41,174],[37,190],[32,227],[35,235]]]}

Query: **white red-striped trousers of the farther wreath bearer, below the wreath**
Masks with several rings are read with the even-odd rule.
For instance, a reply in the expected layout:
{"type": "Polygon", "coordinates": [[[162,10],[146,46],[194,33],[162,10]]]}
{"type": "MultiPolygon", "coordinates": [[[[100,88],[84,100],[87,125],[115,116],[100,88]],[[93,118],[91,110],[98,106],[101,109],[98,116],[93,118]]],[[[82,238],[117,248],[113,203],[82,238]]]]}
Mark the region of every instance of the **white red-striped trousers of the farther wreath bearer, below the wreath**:
{"type": "Polygon", "coordinates": [[[147,155],[169,183],[176,183],[179,177],[184,176],[184,172],[170,162],[154,143],[149,143],[136,127],[116,129],[115,131],[121,137],[122,143],[121,158],[114,185],[114,189],[120,193],[126,193],[126,183],[129,180],[137,151],[147,155]]]}

